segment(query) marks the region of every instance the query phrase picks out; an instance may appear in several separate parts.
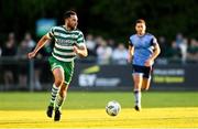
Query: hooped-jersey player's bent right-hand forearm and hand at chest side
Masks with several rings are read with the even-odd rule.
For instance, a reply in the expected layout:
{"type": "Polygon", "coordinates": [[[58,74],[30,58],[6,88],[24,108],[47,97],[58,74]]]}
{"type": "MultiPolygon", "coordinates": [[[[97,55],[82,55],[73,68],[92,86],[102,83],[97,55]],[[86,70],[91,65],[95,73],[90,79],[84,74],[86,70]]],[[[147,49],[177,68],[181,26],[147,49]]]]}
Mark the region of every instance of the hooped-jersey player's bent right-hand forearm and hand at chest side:
{"type": "Polygon", "coordinates": [[[79,46],[75,45],[74,52],[80,57],[87,57],[88,56],[87,47],[85,44],[79,45],[79,46]]]}

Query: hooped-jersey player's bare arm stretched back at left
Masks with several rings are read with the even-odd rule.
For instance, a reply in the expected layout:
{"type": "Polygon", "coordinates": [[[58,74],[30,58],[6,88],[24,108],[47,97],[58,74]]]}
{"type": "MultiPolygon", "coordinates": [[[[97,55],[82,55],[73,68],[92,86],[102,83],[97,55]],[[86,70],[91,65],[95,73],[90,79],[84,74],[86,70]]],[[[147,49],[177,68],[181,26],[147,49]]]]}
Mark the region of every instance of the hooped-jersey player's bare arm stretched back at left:
{"type": "Polygon", "coordinates": [[[36,53],[45,45],[47,40],[51,40],[51,37],[48,37],[47,34],[42,36],[42,39],[36,44],[35,49],[31,53],[29,53],[29,58],[35,57],[36,53]]]}

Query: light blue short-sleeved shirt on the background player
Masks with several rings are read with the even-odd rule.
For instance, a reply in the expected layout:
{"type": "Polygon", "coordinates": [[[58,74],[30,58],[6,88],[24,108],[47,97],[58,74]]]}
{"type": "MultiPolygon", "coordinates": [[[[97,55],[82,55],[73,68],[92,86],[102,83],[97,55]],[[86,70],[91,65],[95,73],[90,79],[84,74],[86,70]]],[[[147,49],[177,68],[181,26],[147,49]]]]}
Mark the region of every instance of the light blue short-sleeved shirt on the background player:
{"type": "Polygon", "coordinates": [[[133,64],[145,66],[145,61],[153,54],[156,43],[156,37],[150,33],[145,33],[144,35],[131,35],[130,45],[134,46],[133,64]]]}

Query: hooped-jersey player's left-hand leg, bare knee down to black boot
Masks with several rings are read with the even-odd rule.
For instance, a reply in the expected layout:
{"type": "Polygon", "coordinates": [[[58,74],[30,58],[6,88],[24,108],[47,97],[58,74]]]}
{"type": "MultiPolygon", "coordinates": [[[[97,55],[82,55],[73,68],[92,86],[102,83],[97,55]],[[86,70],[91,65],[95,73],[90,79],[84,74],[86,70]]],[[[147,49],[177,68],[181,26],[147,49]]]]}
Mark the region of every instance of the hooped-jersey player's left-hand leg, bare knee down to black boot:
{"type": "Polygon", "coordinates": [[[59,87],[64,83],[64,71],[62,67],[56,67],[53,69],[53,75],[54,75],[54,84],[52,87],[52,96],[51,96],[51,103],[47,108],[47,116],[52,117],[53,109],[54,109],[54,103],[57,96],[57,93],[59,92],[59,87]]]}

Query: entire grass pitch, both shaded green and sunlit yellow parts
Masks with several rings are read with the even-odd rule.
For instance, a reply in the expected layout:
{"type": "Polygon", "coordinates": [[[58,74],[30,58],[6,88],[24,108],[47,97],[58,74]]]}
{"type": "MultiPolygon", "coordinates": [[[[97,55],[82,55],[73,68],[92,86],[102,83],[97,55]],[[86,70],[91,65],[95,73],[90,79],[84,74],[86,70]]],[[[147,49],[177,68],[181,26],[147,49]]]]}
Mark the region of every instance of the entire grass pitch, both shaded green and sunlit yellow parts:
{"type": "Polygon", "coordinates": [[[0,128],[198,128],[197,92],[145,92],[133,109],[132,92],[68,92],[59,122],[45,115],[51,93],[0,93],[0,128]],[[106,114],[108,101],[122,109],[106,114]]]}

